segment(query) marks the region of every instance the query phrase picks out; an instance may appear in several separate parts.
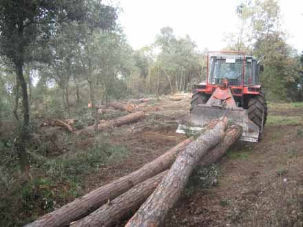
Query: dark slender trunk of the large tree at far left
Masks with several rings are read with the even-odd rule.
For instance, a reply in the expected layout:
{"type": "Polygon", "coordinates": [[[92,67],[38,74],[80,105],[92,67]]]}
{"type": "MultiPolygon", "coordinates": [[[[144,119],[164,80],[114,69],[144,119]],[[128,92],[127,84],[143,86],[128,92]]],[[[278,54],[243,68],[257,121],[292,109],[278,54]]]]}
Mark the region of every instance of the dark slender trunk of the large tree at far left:
{"type": "Polygon", "coordinates": [[[21,85],[22,92],[22,106],[23,106],[23,125],[19,135],[19,141],[17,142],[17,152],[19,155],[19,162],[21,171],[28,173],[30,168],[28,165],[28,155],[26,153],[26,144],[29,139],[28,125],[30,123],[30,107],[28,105],[28,87],[23,76],[23,59],[19,59],[15,62],[16,74],[21,85]]]}

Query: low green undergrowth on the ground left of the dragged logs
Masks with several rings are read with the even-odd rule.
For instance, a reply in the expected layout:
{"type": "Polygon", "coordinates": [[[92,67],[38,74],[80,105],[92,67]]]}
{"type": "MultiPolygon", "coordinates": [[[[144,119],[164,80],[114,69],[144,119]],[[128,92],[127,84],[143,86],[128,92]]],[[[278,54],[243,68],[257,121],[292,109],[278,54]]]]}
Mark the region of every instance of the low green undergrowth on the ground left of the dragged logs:
{"type": "MultiPolygon", "coordinates": [[[[10,142],[0,142],[0,226],[23,226],[83,195],[85,177],[114,164],[127,153],[103,136],[85,150],[69,150],[56,157],[29,151],[32,180],[19,175],[17,154],[10,142]],[[41,158],[43,157],[43,158],[41,158]]],[[[41,152],[40,152],[41,153],[41,152]]]]}

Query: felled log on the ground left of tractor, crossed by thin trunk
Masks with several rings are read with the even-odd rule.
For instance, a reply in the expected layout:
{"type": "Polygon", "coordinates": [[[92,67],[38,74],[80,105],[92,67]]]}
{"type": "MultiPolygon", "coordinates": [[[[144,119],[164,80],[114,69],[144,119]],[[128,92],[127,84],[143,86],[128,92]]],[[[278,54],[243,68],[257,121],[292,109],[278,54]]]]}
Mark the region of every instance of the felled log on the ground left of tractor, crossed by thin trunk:
{"type": "MultiPolygon", "coordinates": [[[[132,122],[136,122],[141,118],[145,117],[145,113],[143,111],[135,112],[134,114],[129,114],[127,116],[123,116],[121,118],[116,118],[114,120],[105,121],[98,125],[98,131],[105,131],[106,129],[111,129],[113,127],[120,127],[121,125],[127,125],[132,122]]],[[[85,127],[78,131],[78,134],[81,133],[92,133],[94,132],[94,126],[85,127]]]]}

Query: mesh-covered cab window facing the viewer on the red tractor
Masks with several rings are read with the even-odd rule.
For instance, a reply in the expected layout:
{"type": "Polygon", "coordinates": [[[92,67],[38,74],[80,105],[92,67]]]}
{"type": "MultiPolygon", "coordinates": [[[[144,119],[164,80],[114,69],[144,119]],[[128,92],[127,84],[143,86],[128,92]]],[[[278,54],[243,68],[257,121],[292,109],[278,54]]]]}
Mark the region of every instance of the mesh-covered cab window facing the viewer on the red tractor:
{"type": "Polygon", "coordinates": [[[231,85],[242,84],[243,61],[240,59],[217,59],[209,61],[209,83],[220,84],[223,78],[231,85]]]}

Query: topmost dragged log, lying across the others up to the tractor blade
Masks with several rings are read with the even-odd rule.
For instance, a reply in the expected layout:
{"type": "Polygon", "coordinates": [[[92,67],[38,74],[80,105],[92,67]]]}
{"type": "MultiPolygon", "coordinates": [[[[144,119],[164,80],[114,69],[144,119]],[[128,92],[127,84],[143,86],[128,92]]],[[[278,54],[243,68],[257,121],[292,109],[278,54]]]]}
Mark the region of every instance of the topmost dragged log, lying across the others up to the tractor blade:
{"type": "Polygon", "coordinates": [[[180,197],[194,167],[207,151],[221,142],[226,127],[227,118],[223,118],[213,129],[208,129],[194,142],[191,142],[185,151],[178,155],[171,169],[169,169],[154,193],[149,196],[132,219],[127,222],[126,226],[160,226],[168,210],[174,206],[180,197]]]}

